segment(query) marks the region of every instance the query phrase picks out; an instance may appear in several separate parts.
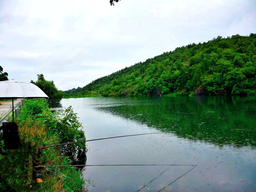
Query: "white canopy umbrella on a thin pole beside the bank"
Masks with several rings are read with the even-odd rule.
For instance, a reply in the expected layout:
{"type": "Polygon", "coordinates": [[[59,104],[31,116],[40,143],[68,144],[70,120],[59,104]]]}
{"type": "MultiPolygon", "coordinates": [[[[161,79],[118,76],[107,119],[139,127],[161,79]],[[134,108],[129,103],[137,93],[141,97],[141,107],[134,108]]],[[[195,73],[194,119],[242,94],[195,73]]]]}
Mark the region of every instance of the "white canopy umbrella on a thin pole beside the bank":
{"type": "Polygon", "coordinates": [[[0,81],[0,98],[12,99],[12,121],[13,121],[13,99],[15,98],[49,98],[38,86],[33,83],[18,81],[0,81]]]}

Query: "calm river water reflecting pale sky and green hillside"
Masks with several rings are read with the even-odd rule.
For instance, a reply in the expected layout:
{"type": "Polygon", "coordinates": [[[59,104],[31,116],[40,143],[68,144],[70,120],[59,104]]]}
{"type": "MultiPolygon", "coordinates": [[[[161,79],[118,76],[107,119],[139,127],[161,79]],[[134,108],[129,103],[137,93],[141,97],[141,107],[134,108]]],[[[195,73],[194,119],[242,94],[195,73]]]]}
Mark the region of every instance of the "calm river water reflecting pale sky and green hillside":
{"type": "Polygon", "coordinates": [[[256,191],[256,98],[62,99],[83,123],[93,191],[256,191]],[[154,164],[154,165],[153,165],[154,164]],[[121,166],[125,165],[125,166],[121,166]],[[137,166],[135,166],[137,165],[137,166]]]}

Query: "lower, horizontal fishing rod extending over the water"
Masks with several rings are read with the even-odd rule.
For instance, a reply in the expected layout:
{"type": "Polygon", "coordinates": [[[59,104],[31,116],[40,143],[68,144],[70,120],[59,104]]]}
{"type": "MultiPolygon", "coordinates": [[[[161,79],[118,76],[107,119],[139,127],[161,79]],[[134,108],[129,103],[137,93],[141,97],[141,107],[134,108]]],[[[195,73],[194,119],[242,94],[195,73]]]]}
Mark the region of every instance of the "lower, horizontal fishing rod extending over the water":
{"type": "MultiPolygon", "coordinates": [[[[188,164],[105,164],[105,165],[49,165],[49,166],[34,166],[36,169],[51,168],[51,167],[79,167],[79,166],[197,166],[188,164]]],[[[168,167],[169,169],[170,167],[168,167]]]]}

